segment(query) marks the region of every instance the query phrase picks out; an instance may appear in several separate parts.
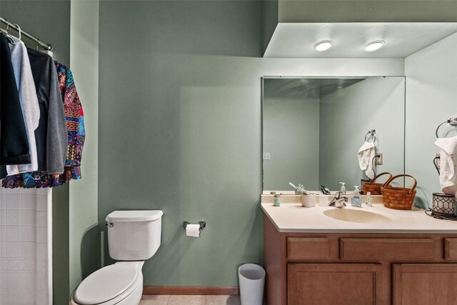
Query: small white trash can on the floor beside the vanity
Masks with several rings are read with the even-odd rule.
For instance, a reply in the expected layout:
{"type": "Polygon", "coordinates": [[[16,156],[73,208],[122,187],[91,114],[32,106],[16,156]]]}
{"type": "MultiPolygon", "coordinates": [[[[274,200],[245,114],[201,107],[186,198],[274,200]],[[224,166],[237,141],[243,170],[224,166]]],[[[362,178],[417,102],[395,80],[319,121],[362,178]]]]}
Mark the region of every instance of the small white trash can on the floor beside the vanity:
{"type": "Polygon", "coordinates": [[[241,305],[262,305],[265,270],[257,264],[243,264],[238,268],[241,305]]]}

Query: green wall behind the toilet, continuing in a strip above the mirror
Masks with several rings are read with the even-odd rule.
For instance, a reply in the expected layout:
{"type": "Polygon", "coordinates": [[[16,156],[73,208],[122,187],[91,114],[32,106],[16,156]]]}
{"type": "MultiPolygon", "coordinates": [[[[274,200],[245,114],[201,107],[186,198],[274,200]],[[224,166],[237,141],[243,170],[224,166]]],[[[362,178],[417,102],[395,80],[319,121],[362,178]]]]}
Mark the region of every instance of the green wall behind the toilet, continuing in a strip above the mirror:
{"type": "Polygon", "coordinates": [[[239,264],[262,263],[261,76],[404,73],[403,59],[262,59],[261,5],[100,3],[99,229],[116,209],[164,211],[145,285],[236,286],[239,264]]]}

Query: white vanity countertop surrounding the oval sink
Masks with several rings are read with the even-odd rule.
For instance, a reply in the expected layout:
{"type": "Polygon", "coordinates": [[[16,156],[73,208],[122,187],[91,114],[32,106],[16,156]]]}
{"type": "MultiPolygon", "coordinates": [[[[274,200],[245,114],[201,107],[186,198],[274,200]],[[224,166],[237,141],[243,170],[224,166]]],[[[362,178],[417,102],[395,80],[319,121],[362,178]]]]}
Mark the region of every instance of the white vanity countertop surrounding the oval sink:
{"type": "Polygon", "coordinates": [[[425,214],[424,210],[413,207],[412,210],[402,211],[388,209],[383,204],[373,204],[373,207],[351,207],[348,204],[343,209],[363,209],[388,216],[388,223],[362,224],[333,219],[323,214],[331,206],[314,206],[304,208],[301,204],[281,203],[273,206],[271,202],[262,203],[263,212],[273,222],[280,232],[301,233],[457,233],[457,221],[434,219],[425,214]]]}

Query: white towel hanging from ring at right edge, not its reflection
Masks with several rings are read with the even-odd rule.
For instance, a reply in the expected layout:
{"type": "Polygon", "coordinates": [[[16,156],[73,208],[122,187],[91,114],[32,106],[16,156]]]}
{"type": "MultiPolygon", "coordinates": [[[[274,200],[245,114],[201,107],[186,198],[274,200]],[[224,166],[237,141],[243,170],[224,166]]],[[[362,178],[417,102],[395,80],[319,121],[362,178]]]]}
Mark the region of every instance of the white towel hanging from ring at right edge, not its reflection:
{"type": "Polygon", "coordinates": [[[457,136],[439,138],[435,141],[440,148],[440,184],[443,193],[457,195],[457,136]]]}

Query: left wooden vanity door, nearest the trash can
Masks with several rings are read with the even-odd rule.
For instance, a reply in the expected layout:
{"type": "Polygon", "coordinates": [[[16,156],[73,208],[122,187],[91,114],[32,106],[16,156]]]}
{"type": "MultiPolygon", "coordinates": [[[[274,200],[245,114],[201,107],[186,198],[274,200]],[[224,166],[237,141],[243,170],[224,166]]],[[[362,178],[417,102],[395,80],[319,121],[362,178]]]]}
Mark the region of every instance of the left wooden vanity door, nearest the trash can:
{"type": "Polygon", "coordinates": [[[379,304],[380,264],[288,264],[288,305],[379,304]]]}

